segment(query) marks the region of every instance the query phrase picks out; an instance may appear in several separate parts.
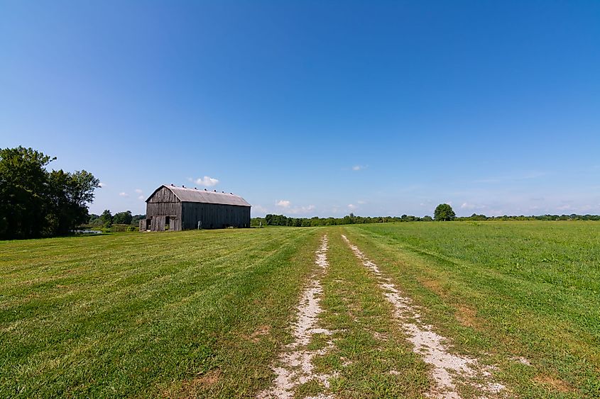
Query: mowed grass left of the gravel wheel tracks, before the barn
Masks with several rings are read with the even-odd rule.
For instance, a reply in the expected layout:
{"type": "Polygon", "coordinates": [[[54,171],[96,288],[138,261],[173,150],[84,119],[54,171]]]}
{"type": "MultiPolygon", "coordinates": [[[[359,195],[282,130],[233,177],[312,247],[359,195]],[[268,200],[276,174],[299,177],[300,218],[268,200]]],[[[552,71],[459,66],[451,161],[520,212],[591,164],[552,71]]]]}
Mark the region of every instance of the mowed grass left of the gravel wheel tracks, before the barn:
{"type": "Polygon", "coordinates": [[[0,242],[0,397],[266,388],[318,231],[0,242]]]}

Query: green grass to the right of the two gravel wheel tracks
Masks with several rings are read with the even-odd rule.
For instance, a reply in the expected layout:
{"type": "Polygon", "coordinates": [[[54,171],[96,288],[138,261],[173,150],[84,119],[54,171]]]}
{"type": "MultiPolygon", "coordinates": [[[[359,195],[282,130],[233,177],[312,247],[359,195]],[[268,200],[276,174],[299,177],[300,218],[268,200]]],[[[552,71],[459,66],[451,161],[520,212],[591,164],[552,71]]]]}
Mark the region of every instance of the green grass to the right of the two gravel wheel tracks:
{"type": "Polygon", "coordinates": [[[600,223],[344,230],[454,350],[496,364],[509,395],[600,397],[600,223]]]}

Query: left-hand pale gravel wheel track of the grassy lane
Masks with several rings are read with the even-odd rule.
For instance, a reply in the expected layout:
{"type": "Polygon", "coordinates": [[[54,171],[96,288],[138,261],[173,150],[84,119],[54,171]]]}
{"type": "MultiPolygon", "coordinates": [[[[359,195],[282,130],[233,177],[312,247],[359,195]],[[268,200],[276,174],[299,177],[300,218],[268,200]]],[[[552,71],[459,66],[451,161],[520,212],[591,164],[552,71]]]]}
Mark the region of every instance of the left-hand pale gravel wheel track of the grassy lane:
{"type": "MultiPolygon", "coordinates": [[[[324,235],[321,246],[316,252],[315,264],[319,266],[318,271],[311,277],[297,308],[298,321],[292,332],[294,341],[288,344],[285,351],[280,354],[278,364],[273,366],[273,371],[276,373],[273,386],[259,393],[258,398],[293,398],[295,388],[309,381],[318,381],[329,388],[329,378],[333,375],[317,373],[312,359],[329,352],[333,342],[327,340],[322,349],[307,348],[315,334],[332,335],[329,330],[317,327],[318,315],[322,312],[320,297],[323,292],[319,277],[329,266],[328,248],[327,235],[324,235]]],[[[325,399],[329,396],[319,395],[317,398],[325,399]]]]}

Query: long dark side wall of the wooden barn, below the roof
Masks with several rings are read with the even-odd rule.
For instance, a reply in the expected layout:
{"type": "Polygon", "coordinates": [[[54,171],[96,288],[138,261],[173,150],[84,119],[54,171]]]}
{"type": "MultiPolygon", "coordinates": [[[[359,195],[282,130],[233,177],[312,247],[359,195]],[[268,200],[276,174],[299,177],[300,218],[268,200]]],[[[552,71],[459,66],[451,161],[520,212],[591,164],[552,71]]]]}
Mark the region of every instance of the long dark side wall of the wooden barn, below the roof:
{"type": "Polygon", "coordinates": [[[182,229],[195,229],[198,221],[203,229],[224,227],[250,227],[250,207],[217,203],[182,203],[182,229]]]}

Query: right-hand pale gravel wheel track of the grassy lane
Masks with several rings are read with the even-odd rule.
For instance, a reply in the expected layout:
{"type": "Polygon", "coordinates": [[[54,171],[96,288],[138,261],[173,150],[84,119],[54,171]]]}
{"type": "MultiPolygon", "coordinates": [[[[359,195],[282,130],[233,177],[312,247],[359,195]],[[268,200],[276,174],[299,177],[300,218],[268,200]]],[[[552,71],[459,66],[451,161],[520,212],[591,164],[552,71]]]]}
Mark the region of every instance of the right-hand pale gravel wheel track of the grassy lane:
{"type": "Polygon", "coordinates": [[[431,325],[421,321],[419,308],[413,301],[402,296],[391,279],[382,276],[378,266],[371,262],[365,254],[345,235],[342,238],[349,245],[354,255],[378,277],[383,295],[394,306],[395,315],[400,326],[413,344],[413,352],[422,356],[425,363],[432,366],[432,377],[435,388],[429,396],[435,398],[460,398],[457,381],[466,381],[470,386],[480,390],[482,394],[500,393],[505,389],[501,383],[493,381],[490,367],[482,366],[477,359],[469,356],[449,353],[449,339],[438,335],[431,325]],[[486,381],[479,383],[478,381],[486,381]]]}

